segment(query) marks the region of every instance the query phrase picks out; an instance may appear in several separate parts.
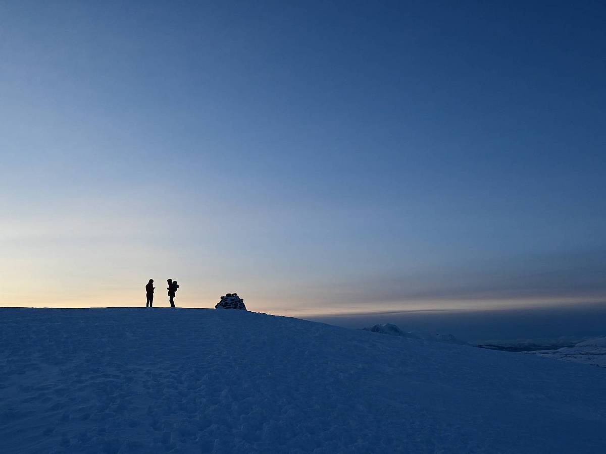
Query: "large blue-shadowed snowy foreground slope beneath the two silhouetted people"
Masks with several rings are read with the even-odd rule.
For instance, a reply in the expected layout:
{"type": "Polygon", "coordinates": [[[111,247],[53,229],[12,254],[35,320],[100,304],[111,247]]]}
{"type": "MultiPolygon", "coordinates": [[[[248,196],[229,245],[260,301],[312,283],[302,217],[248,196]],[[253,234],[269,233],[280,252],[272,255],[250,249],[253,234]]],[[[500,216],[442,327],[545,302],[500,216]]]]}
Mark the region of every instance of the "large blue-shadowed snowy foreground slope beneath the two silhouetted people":
{"type": "Polygon", "coordinates": [[[0,452],[603,453],[606,370],[245,311],[0,309],[0,452]]]}

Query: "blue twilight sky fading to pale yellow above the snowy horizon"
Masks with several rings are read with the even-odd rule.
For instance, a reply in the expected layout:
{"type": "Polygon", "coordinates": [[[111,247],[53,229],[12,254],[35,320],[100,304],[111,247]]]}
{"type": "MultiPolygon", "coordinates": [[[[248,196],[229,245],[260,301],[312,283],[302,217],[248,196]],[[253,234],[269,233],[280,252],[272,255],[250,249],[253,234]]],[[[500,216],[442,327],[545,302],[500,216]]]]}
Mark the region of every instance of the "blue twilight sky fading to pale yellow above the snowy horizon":
{"type": "Polygon", "coordinates": [[[0,306],[606,301],[606,6],[0,1],[0,306]]]}

